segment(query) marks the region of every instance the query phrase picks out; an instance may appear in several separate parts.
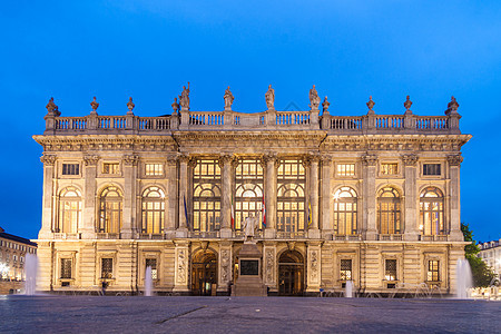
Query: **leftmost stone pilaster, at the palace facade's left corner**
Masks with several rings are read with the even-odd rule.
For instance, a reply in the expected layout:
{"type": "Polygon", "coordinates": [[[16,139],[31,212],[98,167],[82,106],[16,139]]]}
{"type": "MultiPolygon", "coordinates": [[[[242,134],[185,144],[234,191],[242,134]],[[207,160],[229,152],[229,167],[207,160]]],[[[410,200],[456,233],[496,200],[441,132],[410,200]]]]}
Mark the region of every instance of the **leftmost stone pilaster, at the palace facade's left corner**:
{"type": "MultiPolygon", "coordinates": [[[[53,177],[56,156],[43,155],[40,157],[43,164],[43,199],[42,199],[42,226],[38,233],[39,239],[52,238],[52,214],[56,215],[57,208],[52,207],[53,196],[53,177]]],[[[57,205],[57,204],[56,204],[57,205]]]]}

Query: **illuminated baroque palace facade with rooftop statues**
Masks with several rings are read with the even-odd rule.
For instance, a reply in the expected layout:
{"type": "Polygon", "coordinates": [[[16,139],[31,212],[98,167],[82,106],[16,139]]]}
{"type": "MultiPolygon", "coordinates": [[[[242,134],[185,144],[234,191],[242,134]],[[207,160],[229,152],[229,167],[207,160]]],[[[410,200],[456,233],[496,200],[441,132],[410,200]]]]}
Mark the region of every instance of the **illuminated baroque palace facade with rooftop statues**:
{"type": "MultiPolygon", "coordinates": [[[[257,217],[259,276],[269,294],[438,287],[453,293],[464,256],[461,147],[444,116],[333,116],[311,110],[189,110],[189,85],[163,117],[61,117],[47,105],[41,291],[227,294],[244,220],[257,217]]],[[[394,289],[393,289],[394,291],[394,289]]]]}

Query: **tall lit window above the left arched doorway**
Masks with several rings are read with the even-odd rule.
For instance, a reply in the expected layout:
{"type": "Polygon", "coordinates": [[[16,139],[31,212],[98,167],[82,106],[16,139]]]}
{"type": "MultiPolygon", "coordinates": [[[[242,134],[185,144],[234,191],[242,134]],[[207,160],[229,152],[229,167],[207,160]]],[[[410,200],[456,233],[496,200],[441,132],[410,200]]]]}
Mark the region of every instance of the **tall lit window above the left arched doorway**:
{"type": "Polygon", "coordinates": [[[220,228],[220,167],[218,160],[198,159],[193,169],[193,229],[220,228]]]}

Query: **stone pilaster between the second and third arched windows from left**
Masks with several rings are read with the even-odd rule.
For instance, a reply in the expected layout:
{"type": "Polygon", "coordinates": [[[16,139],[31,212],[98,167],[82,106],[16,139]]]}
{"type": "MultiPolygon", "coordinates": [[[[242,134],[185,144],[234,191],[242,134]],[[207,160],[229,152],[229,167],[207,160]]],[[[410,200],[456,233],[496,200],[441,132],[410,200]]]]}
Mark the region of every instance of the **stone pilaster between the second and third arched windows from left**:
{"type": "Polygon", "coordinates": [[[122,239],[131,239],[134,234],[140,230],[136,222],[136,177],[138,160],[139,157],[136,155],[124,156],[124,215],[120,229],[120,238],[122,239]]]}

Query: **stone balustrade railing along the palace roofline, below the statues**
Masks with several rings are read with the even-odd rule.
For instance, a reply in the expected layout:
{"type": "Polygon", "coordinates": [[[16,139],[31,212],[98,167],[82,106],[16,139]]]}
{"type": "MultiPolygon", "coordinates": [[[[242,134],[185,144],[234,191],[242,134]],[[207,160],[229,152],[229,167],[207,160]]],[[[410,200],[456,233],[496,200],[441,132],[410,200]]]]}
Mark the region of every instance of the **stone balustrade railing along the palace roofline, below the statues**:
{"type": "Polygon", "coordinates": [[[181,111],[161,117],[98,116],[60,117],[47,115],[45,135],[155,134],[173,130],[325,130],[341,135],[365,134],[461,134],[461,116],[375,115],[318,116],[318,110],[245,114],[181,111]]]}

